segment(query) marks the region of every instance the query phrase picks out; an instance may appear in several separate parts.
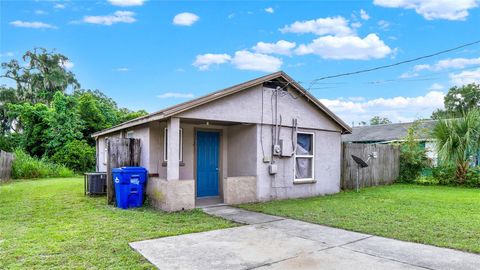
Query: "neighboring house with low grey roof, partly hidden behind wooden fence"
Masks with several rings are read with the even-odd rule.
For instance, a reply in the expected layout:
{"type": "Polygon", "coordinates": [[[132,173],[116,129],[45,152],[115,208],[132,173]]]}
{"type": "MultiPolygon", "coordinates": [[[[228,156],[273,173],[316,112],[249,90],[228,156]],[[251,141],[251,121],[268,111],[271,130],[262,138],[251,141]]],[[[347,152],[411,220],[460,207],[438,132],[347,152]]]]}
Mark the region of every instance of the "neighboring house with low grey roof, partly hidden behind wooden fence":
{"type": "MultiPolygon", "coordinates": [[[[353,127],[351,134],[342,136],[342,141],[351,143],[402,142],[405,141],[408,129],[414,123],[415,122],[353,127]]],[[[433,165],[437,164],[436,144],[432,135],[436,123],[436,120],[424,120],[420,121],[416,127],[417,140],[427,151],[427,157],[432,160],[433,165]]]]}

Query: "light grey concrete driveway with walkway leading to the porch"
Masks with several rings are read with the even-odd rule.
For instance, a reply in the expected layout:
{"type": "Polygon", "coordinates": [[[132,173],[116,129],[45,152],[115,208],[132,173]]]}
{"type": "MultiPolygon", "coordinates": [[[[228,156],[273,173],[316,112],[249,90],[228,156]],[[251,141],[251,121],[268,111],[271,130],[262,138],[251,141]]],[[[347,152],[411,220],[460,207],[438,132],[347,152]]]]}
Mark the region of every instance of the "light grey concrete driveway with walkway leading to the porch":
{"type": "Polygon", "coordinates": [[[246,226],[130,243],[160,269],[480,269],[480,255],[230,206],[208,214],[246,226]]]}

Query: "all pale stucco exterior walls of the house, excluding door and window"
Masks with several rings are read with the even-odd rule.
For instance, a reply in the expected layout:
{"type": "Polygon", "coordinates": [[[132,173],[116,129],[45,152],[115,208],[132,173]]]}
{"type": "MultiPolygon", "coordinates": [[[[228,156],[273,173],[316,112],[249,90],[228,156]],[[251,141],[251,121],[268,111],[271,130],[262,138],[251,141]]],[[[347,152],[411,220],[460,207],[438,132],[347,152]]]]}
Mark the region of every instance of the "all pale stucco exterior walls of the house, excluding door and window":
{"type": "MultiPolygon", "coordinates": [[[[158,183],[155,187],[148,188],[149,193],[158,195],[161,191],[162,196],[169,196],[164,202],[157,200],[159,207],[170,210],[189,208],[192,198],[184,198],[185,201],[178,204],[186,205],[185,207],[174,205],[174,193],[178,190],[185,191],[182,196],[193,196],[195,199],[195,130],[221,131],[220,195],[231,196],[224,198],[225,202],[247,202],[252,201],[252,197],[260,201],[297,198],[340,190],[341,127],[313,104],[309,104],[305,97],[297,96],[296,92],[278,96],[278,119],[280,116],[282,118],[279,139],[286,141],[287,146],[292,144],[293,119],[298,120],[299,131],[314,133],[314,181],[294,183],[294,157],[272,157],[272,110],[275,108],[272,92],[272,89],[262,86],[252,87],[176,116],[180,118],[180,128],[183,130],[183,160],[179,167],[180,180],[172,182],[187,182],[172,184],[162,180],[167,175],[166,162],[163,160],[165,121],[155,121],[123,131],[126,133],[132,130],[133,137],[140,138],[141,165],[150,173],[158,173],[158,177],[152,178],[158,179],[158,183]],[[188,123],[192,119],[238,124],[221,126],[188,123]],[[278,166],[275,175],[268,172],[270,159],[278,166]],[[248,196],[235,192],[239,190],[248,191],[248,196]],[[173,193],[170,194],[171,192],[173,193]]],[[[104,137],[98,138],[97,142],[97,148],[102,147],[104,148],[104,137]]],[[[101,153],[103,151],[99,151],[97,158],[99,170],[106,170],[101,166],[101,153]]]]}

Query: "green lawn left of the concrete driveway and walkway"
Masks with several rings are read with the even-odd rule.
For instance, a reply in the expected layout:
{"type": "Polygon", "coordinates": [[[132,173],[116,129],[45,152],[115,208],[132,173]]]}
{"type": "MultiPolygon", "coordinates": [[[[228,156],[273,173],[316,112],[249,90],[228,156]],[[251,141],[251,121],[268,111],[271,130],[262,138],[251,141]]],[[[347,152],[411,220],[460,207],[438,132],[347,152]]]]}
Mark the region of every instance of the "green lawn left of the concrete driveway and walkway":
{"type": "Polygon", "coordinates": [[[153,269],[132,241],[234,224],[200,210],[121,210],[83,196],[83,178],[0,185],[0,269],[153,269]]]}

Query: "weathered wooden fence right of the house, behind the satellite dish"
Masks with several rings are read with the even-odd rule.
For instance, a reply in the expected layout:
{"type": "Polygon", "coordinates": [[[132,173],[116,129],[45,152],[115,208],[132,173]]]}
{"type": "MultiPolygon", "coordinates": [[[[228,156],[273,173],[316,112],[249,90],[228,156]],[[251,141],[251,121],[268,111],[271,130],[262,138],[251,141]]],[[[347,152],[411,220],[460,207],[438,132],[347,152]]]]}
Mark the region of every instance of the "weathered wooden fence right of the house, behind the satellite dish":
{"type": "Polygon", "coordinates": [[[342,189],[355,189],[358,165],[352,155],[364,161],[372,152],[377,158],[368,161],[368,167],[359,171],[359,186],[370,187],[392,184],[400,173],[400,149],[390,144],[343,143],[342,189]]]}

